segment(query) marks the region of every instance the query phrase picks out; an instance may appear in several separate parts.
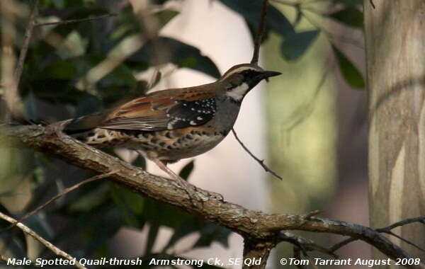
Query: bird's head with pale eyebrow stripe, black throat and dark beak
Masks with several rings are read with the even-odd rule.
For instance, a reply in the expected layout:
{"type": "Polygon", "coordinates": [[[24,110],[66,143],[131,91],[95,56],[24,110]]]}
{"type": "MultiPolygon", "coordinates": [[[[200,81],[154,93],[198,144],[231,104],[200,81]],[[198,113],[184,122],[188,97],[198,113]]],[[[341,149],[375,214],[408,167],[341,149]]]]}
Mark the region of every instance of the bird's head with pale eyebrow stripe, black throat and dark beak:
{"type": "Polygon", "coordinates": [[[265,71],[256,64],[238,64],[230,68],[221,78],[225,86],[225,96],[232,101],[241,102],[246,93],[263,79],[268,81],[271,76],[278,76],[280,72],[265,71]]]}

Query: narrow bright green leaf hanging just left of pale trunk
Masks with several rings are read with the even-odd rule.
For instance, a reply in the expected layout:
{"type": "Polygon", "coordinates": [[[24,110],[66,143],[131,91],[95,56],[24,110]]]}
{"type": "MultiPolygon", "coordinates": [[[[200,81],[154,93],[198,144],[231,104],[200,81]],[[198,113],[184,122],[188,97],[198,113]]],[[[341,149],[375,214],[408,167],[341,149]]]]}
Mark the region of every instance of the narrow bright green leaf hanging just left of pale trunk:
{"type": "Polygon", "coordinates": [[[365,88],[365,81],[361,71],[334,45],[332,45],[332,50],[334,50],[339,69],[346,82],[353,88],[365,88]]]}

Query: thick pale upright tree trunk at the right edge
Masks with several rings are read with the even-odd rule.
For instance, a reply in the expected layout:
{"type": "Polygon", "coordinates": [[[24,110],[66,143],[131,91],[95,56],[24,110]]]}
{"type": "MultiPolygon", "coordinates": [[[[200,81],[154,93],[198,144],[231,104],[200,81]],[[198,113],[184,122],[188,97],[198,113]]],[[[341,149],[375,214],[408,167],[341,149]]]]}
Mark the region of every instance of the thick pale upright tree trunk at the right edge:
{"type": "MultiPolygon", "coordinates": [[[[425,214],[425,1],[364,1],[370,227],[425,214]]],[[[425,227],[394,230],[425,248],[425,227]]],[[[399,239],[392,241],[425,258],[399,239]]],[[[382,254],[374,250],[376,258],[382,254]]]]}

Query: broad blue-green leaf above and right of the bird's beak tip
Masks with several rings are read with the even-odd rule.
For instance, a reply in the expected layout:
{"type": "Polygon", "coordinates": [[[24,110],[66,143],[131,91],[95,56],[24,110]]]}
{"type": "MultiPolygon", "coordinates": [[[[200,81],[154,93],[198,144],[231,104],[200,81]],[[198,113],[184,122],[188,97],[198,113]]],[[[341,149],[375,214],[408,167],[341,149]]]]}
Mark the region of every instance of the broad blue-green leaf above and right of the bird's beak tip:
{"type": "Polygon", "coordinates": [[[299,59],[316,40],[318,34],[319,30],[310,30],[288,35],[280,45],[283,57],[290,61],[299,59]]]}

